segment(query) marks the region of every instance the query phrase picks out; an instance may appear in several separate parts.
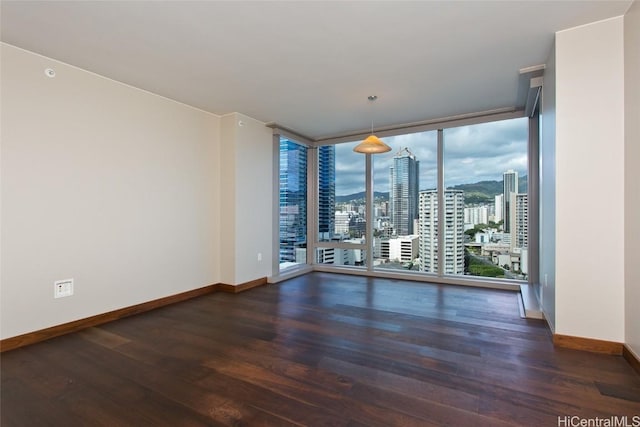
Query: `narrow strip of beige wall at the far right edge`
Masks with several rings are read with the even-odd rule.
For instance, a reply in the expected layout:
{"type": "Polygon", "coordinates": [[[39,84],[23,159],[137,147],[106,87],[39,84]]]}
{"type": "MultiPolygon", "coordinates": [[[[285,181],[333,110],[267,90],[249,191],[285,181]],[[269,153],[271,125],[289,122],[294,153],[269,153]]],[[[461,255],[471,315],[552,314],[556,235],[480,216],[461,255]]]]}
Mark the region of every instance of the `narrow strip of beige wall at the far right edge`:
{"type": "Polygon", "coordinates": [[[640,358],[640,2],[624,17],[625,343],[640,358]]]}

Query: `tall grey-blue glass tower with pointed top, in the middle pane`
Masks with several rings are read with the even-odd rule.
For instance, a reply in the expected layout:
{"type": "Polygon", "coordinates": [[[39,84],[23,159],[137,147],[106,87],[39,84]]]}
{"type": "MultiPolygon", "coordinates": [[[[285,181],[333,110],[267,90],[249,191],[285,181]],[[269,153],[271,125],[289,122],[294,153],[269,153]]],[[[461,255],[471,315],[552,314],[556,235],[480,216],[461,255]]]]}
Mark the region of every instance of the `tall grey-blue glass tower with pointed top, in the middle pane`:
{"type": "Polygon", "coordinates": [[[414,221],[418,219],[419,165],[416,157],[403,148],[389,168],[389,217],[397,236],[414,234],[414,221]]]}

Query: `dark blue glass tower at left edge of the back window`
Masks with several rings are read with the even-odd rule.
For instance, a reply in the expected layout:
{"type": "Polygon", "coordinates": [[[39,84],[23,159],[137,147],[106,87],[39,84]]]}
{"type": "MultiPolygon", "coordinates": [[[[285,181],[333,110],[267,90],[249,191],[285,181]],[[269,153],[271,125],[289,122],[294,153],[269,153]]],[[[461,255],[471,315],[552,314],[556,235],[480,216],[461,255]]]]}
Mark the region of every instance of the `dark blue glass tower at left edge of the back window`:
{"type": "Polygon", "coordinates": [[[336,147],[318,148],[318,240],[329,240],[335,231],[336,147]]]}

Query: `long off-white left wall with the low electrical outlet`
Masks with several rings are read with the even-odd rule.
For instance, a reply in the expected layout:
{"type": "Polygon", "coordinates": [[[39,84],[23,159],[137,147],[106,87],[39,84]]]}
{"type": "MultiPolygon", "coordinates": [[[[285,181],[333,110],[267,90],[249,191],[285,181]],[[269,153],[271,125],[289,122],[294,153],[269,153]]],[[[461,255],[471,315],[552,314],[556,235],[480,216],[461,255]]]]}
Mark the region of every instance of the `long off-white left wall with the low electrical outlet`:
{"type": "Polygon", "coordinates": [[[218,283],[219,117],[1,54],[2,338],[218,283]]]}

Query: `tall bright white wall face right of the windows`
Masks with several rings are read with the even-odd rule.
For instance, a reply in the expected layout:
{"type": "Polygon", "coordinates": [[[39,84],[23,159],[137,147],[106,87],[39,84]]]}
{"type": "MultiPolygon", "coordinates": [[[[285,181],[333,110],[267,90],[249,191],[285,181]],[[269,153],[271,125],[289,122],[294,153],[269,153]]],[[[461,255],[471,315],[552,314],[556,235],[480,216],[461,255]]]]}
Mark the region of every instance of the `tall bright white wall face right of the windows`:
{"type": "Polygon", "coordinates": [[[555,332],[615,342],[625,309],[623,58],[622,17],[556,34],[555,332]]]}

